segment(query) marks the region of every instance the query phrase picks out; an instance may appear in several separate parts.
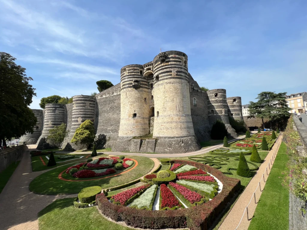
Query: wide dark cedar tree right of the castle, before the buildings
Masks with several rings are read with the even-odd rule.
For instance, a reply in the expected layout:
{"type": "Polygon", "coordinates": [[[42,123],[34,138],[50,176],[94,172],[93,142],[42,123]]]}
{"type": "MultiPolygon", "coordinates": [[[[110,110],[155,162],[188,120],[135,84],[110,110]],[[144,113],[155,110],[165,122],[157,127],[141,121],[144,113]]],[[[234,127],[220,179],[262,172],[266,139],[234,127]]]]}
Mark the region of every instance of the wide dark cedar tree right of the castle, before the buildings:
{"type": "Polygon", "coordinates": [[[250,102],[247,118],[261,118],[263,128],[265,128],[263,118],[269,119],[270,128],[272,129],[272,121],[285,123],[290,117],[286,92],[278,94],[275,92],[261,92],[256,99],[258,99],[257,102],[250,102]]]}

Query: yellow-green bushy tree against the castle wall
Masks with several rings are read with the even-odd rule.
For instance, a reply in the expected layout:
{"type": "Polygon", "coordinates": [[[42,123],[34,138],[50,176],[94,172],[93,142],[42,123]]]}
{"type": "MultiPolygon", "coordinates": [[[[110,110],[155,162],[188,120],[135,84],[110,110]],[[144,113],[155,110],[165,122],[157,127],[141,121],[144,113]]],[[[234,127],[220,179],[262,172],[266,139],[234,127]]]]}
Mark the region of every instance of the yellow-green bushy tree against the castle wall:
{"type": "Polygon", "coordinates": [[[75,135],[72,137],[71,142],[74,144],[85,144],[89,149],[95,140],[94,123],[90,120],[85,120],[79,128],[76,129],[75,135]]]}

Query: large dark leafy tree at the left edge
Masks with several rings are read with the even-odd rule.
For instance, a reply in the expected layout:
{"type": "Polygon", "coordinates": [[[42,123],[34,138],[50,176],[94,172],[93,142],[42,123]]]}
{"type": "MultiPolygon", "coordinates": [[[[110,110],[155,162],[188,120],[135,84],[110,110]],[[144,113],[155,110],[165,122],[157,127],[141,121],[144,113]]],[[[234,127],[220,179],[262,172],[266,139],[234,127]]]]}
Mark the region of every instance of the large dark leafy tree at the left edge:
{"type": "Polygon", "coordinates": [[[0,52],[0,146],[6,141],[33,133],[37,118],[28,107],[36,96],[29,84],[25,68],[16,65],[16,58],[0,52]]]}

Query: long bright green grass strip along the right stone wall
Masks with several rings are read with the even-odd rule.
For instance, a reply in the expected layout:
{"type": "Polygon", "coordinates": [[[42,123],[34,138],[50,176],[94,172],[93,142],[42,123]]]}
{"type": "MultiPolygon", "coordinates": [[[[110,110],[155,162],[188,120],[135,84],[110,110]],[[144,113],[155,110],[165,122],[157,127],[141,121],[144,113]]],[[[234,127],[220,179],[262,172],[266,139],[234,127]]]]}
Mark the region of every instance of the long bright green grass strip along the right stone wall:
{"type": "Polygon", "coordinates": [[[289,190],[282,186],[289,160],[286,145],[282,142],[275,162],[261,194],[249,230],[289,229],[289,190]]]}

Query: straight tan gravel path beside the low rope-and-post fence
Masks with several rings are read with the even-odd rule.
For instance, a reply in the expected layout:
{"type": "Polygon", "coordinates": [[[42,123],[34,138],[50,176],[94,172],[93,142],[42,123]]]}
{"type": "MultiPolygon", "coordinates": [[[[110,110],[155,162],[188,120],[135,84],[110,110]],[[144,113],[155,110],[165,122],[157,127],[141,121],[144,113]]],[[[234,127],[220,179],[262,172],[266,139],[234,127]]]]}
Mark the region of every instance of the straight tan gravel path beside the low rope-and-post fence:
{"type": "MultiPolygon", "coordinates": [[[[239,227],[237,228],[238,230],[247,230],[251,219],[254,215],[255,209],[257,207],[257,203],[259,201],[259,198],[262,194],[262,190],[266,184],[266,180],[268,178],[268,175],[266,174],[266,167],[268,166],[268,163],[270,163],[270,168],[271,167],[271,162],[274,163],[274,161],[270,161],[270,159],[272,158],[274,152],[278,151],[279,145],[282,142],[282,134],[278,137],[278,140],[276,141],[276,143],[274,144],[272,150],[268,153],[268,155],[266,156],[266,158],[264,159],[264,162],[260,165],[259,169],[257,170],[255,176],[251,179],[251,181],[249,182],[249,184],[246,186],[245,190],[243,191],[243,193],[240,195],[239,199],[237,200],[237,202],[235,203],[235,205],[233,206],[233,208],[231,209],[231,211],[228,213],[227,217],[225,218],[225,220],[223,221],[223,223],[221,224],[219,230],[234,230],[236,229],[236,227],[238,226],[242,215],[244,213],[245,207],[249,204],[249,202],[251,201],[251,203],[248,205],[248,220],[247,220],[247,212],[245,211],[244,216],[242,218],[242,221],[239,225],[239,227]],[[262,174],[264,173],[264,179],[265,182],[263,180],[262,174]],[[260,187],[261,190],[258,186],[260,182],[260,187]],[[258,187],[258,188],[257,188],[258,187]],[[257,188],[257,190],[256,190],[257,188]],[[256,190],[256,192],[255,192],[256,190]],[[255,192],[256,195],[256,204],[255,204],[255,198],[253,196],[255,192]],[[252,198],[252,200],[251,200],[252,198]]],[[[273,156],[274,159],[274,156],[273,156]]],[[[270,174],[270,169],[269,167],[267,167],[267,173],[270,174]]]]}

